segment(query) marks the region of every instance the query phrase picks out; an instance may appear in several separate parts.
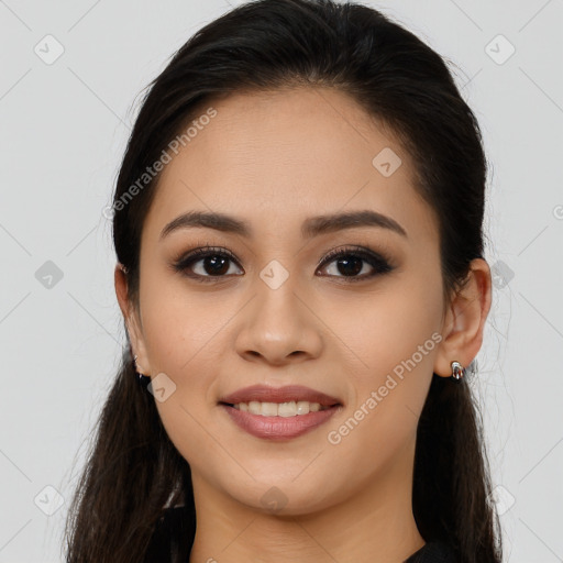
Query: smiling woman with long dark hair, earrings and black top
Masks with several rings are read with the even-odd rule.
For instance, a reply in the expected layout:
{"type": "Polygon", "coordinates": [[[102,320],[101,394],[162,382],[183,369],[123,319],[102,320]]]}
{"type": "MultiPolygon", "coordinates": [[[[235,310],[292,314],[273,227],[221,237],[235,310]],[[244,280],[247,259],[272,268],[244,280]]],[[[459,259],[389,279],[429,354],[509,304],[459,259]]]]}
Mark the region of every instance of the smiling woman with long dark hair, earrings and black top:
{"type": "Polygon", "coordinates": [[[128,347],[67,561],[499,563],[466,373],[485,183],[443,60],[377,11],[200,30],[118,178],[128,347]]]}

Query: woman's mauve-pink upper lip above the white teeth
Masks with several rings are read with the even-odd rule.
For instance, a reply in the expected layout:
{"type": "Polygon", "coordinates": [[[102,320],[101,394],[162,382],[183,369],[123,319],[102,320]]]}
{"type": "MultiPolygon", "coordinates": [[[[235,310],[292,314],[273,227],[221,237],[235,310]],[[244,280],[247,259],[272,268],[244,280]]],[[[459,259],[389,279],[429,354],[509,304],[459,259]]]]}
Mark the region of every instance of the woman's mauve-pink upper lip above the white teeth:
{"type": "Polygon", "coordinates": [[[250,402],[257,400],[260,402],[289,402],[298,400],[307,400],[309,402],[319,402],[322,406],[331,407],[340,405],[341,401],[335,397],[331,397],[324,393],[302,385],[288,385],[285,387],[268,387],[266,385],[251,385],[238,389],[230,395],[222,397],[219,402],[228,405],[238,405],[239,402],[250,402]]]}

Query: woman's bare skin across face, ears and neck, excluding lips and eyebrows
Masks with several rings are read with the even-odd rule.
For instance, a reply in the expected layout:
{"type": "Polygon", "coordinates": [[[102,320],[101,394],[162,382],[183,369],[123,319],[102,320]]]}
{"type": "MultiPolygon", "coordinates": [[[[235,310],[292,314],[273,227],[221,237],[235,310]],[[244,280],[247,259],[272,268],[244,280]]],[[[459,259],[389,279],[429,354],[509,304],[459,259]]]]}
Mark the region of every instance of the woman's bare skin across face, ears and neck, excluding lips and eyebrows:
{"type": "MultiPolygon", "coordinates": [[[[161,177],[143,228],[139,308],[115,268],[139,369],[176,385],[156,406],[192,471],[190,563],[401,562],[424,544],[411,508],[418,418],[432,372],[449,377],[453,360],[467,366],[481,349],[489,267],[473,261],[466,287],[444,302],[438,223],[413,188],[409,155],[346,95],[240,93],[213,107],[217,117],[161,177]],[[372,165],[385,147],[402,161],[389,177],[372,165]],[[301,238],[306,218],[364,209],[393,218],[408,236],[356,227],[301,238]],[[189,210],[234,216],[254,235],[189,228],[159,240],[189,210]],[[174,272],[178,256],[207,243],[236,257],[223,278],[206,284],[174,272]],[[395,269],[356,283],[334,260],[319,271],[329,251],[353,245],[386,252],[395,269]],[[272,260],[289,275],[277,289],[260,277],[272,260]],[[433,333],[441,342],[330,443],[328,433],[433,333]],[[305,385],[343,408],[296,439],[258,439],[218,406],[256,383],[305,385]],[[273,486],[283,494],[277,512],[261,501],[273,486]]],[[[199,258],[191,271],[212,277],[207,265],[199,258]]],[[[356,277],[374,269],[361,265],[356,277]]]]}

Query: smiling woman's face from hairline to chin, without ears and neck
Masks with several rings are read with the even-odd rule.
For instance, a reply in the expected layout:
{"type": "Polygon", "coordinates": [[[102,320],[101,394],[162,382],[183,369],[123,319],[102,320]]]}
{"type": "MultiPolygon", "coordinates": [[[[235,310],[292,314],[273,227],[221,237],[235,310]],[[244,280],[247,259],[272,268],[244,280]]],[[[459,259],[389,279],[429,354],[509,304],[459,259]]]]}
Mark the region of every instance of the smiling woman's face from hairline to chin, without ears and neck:
{"type": "MultiPolygon", "coordinates": [[[[409,155],[334,90],[212,107],[170,152],[146,217],[133,341],[196,495],[305,514],[369,487],[410,493],[444,303],[438,224],[409,155]],[[166,229],[194,212],[229,221],[166,229]],[[206,245],[207,257],[176,267],[206,245]],[[296,408],[312,412],[289,405],[266,419],[221,402],[255,385],[303,386],[336,406],[314,412],[301,390],[296,408]]],[[[291,399],[247,396],[261,397],[268,405],[254,407],[272,415],[291,399]]]]}

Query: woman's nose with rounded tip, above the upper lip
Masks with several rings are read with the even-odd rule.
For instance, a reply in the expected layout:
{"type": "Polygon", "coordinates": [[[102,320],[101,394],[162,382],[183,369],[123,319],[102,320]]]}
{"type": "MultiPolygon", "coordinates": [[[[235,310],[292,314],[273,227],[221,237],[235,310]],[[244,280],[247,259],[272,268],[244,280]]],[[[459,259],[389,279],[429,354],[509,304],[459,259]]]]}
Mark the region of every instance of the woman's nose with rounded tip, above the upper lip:
{"type": "Polygon", "coordinates": [[[271,365],[303,362],[322,351],[322,322],[310,299],[286,280],[273,289],[262,279],[241,311],[235,340],[236,352],[247,361],[271,365]]]}

